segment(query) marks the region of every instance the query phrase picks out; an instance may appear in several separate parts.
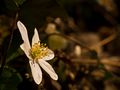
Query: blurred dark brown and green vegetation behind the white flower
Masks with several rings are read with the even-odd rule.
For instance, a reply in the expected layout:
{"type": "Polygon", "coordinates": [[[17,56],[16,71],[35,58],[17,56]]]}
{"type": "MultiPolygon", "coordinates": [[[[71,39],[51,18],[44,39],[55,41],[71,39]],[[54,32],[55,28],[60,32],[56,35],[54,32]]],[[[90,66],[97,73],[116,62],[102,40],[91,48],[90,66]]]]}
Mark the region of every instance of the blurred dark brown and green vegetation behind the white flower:
{"type": "Polygon", "coordinates": [[[119,8],[119,0],[0,0],[0,90],[119,90],[119,8]],[[36,27],[54,51],[57,81],[43,70],[42,83],[33,81],[18,20],[30,41],[36,27]]]}

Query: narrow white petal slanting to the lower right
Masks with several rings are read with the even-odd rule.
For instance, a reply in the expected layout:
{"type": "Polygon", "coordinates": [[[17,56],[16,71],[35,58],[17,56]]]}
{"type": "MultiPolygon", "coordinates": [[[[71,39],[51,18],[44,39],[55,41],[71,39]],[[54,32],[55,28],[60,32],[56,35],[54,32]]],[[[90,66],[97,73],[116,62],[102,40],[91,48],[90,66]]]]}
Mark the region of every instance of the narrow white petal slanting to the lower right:
{"type": "Polygon", "coordinates": [[[58,79],[57,74],[55,73],[54,69],[52,68],[52,66],[47,63],[44,60],[38,60],[40,66],[50,75],[50,77],[54,80],[58,79]]]}

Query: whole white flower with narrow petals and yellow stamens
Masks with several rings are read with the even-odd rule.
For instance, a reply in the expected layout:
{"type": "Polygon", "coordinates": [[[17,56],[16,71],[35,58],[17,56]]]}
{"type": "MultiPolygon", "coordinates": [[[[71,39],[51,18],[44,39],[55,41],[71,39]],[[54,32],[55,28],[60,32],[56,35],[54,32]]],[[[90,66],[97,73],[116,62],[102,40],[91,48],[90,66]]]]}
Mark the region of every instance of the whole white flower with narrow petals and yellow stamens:
{"type": "Polygon", "coordinates": [[[52,79],[57,80],[58,76],[54,69],[49,63],[46,62],[54,58],[54,52],[48,49],[46,45],[40,44],[37,29],[35,28],[34,30],[31,46],[26,27],[20,21],[17,22],[17,26],[24,42],[20,45],[20,47],[29,58],[31,72],[36,84],[40,84],[42,81],[42,72],[40,66],[50,75],[52,79]]]}

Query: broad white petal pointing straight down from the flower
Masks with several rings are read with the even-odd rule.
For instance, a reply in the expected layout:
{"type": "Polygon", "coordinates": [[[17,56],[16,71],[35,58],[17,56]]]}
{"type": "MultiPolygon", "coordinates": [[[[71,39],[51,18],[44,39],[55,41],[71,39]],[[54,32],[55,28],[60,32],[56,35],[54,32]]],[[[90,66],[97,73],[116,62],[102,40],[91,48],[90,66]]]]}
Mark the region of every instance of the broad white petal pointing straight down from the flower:
{"type": "Polygon", "coordinates": [[[33,63],[33,61],[29,61],[29,63],[35,83],[40,84],[42,81],[42,72],[39,65],[36,62],[33,63]]]}

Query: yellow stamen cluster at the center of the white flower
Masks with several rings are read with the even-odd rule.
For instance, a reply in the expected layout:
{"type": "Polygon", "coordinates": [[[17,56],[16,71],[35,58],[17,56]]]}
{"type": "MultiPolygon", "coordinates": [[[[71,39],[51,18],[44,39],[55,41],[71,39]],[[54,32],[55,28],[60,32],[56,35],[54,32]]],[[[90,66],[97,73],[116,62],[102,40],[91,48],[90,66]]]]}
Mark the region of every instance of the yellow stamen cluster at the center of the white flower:
{"type": "Polygon", "coordinates": [[[48,55],[48,47],[46,44],[35,43],[30,49],[30,56],[33,60],[42,59],[48,55]]]}

